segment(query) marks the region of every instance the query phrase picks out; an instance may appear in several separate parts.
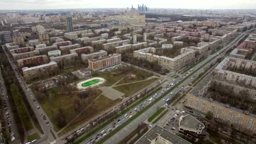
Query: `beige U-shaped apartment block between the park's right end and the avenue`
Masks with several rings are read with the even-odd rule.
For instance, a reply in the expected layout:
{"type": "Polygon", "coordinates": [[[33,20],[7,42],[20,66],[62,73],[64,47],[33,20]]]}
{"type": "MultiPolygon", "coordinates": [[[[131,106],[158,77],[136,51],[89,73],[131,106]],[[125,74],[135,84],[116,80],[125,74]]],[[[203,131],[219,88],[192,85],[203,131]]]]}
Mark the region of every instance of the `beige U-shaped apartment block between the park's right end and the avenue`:
{"type": "Polygon", "coordinates": [[[150,61],[150,62],[156,62],[162,67],[165,67],[167,69],[179,70],[185,67],[185,65],[194,61],[196,51],[187,49],[187,48],[182,48],[181,55],[174,58],[169,58],[166,56],[158,56],[149,52],[154,53],[155,48],[148,47],[146,49],[133,51],[133,57],[146,59],[147,61],[150,61]]]}

